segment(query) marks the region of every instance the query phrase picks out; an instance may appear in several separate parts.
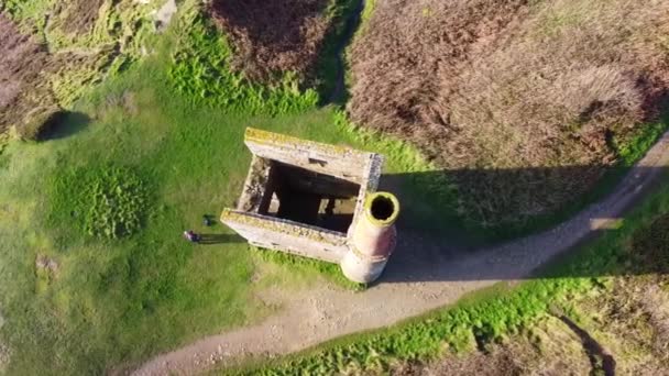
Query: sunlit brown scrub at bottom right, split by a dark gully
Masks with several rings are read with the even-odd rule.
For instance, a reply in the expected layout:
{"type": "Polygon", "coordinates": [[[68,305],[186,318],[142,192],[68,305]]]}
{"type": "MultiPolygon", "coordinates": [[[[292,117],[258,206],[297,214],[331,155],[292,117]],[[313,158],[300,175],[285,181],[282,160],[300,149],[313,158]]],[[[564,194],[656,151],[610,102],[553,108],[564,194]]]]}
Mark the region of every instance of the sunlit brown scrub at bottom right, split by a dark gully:
{"type": "MultiPolygon", "coordinates": [[[[611,290],[579,299],[578,327],[613,360],[616,375],[669,372],[669,280],[661,276],[613,278],[611,290]]],[[[602,355],[572,328],[547,316],[531,328],[481,351],[446,355],[429,364],[406,363],[392,374],[605,375],[602,355]]]]}

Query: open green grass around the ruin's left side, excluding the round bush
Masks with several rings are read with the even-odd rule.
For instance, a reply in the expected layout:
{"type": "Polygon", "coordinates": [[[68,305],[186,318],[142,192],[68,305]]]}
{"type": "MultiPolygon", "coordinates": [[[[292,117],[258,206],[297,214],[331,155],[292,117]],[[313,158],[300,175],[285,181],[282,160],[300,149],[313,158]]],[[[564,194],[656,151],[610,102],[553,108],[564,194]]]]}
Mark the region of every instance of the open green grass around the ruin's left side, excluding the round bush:
{"type": "Polygon", "coordinates": [[[336,110],[309,107],[311,93],[290,85],[266,92],[241,82],[204,97],[179,89],[174,73],[183,62],[204,90],[237,79],[221,78],[224,67],[211,59],[226,53],[224,42],[211,40],[219,35],[190,37],[177,35],[187,45],[176,48],[195,55],[172,63],[165,48],[88,93],[64,122],[64,137],[13,142],[0,155],[0,338],[12,352],[9,373],[102,373],[259,319],[275,309],[254,297],[268,285],[295,287],[317,279],[318,270],[340,278],[337,266],[260,257],[238,237],[198,247],[180,237],[190,228],[229,234],[198,223],[239,195],[250,161],[242,143],[248,125],[384,152],[395,172],[426,168],[410,147],[354,131],[336,110]],[[226,108],[220,100],[231,92],[257,99],[257,114],[226,108]],[[143,231],[119,241],[86,235],[77,229],[86,206],[76,207],[67,191],[54,193],[63,184],[75,190],[74,172],[95,176],[108,166],[134,170],[151,188],[143,231]],[[58,266],[45,272],[35,265],[39,256],[58,266]]]}

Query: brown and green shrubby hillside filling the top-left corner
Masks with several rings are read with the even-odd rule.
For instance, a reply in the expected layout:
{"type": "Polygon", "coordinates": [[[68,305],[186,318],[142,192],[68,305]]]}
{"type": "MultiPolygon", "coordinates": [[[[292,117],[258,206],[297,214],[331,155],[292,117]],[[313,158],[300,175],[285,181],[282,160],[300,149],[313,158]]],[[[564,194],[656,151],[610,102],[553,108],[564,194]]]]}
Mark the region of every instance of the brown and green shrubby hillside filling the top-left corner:
{"type": "Polygon", "coordinates": [[[0,2],[0,133],[40,139],[74,101],[151,49],[155,2],[0,2]],[[45,128],[45,129],[43,129],[45,128]]]}

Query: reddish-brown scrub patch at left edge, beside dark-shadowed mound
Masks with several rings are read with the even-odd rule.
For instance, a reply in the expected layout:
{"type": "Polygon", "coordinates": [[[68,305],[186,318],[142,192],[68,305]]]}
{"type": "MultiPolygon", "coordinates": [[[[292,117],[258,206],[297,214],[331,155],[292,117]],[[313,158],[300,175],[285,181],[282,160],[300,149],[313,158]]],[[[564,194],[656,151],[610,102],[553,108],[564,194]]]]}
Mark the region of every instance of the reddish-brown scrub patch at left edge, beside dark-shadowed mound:
{"type": "Polygon", "coordinates": [[[22,134],[39,133],[58,111],[43,77],[48,68],[45,47],[0,15],[0,133],[12,125],[22,134]]]}

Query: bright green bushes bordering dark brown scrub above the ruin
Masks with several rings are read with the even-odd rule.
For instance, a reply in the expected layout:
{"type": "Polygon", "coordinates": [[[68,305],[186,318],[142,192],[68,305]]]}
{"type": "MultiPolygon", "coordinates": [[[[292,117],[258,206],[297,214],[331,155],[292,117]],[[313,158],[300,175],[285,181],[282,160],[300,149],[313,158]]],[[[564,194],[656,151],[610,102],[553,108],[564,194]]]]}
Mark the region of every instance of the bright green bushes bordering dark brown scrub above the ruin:
{"type": "Polygon", "coordinates": [[[301,91],[295,74],[286,73],[278,84],[261,86],[230,70],[230,44],[210,21],[196,16],[179,35],[168,69],[174,88],[194,104],[231,113],[287,114],[314,108],[319,100],[312,89],[301,91]]]}

